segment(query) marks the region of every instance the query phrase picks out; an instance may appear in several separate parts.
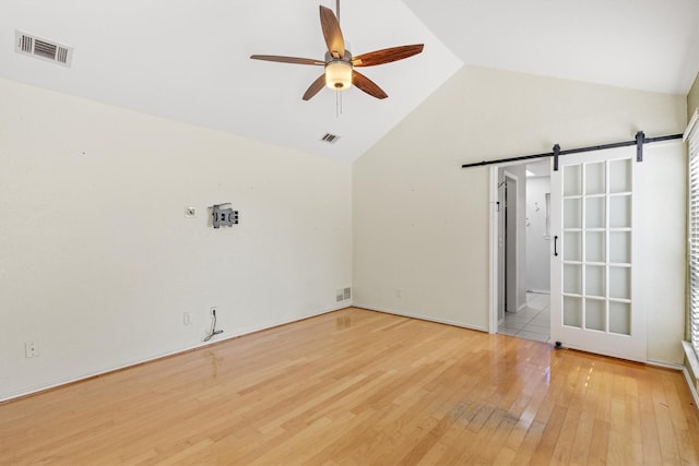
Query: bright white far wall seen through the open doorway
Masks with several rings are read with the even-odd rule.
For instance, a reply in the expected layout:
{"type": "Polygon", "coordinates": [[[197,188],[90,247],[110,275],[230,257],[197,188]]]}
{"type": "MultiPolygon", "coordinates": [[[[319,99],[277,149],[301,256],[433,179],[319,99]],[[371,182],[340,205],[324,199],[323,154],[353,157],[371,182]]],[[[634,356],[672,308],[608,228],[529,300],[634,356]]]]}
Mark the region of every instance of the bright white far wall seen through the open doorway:
{"type": "Polygon", "coordinates": [[[546,236],[546,193],[550,177],[526,179],[526,289],[550,291],[550,239],[546,236]]]}

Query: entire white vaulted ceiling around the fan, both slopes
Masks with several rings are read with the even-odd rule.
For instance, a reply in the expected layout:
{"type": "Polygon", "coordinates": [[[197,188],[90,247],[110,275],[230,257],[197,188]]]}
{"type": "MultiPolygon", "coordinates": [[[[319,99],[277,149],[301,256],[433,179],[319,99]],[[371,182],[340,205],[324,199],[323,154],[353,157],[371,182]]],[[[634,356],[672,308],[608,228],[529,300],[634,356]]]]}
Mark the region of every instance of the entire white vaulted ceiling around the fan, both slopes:
{"type": "MultiPolygon", "coordinates": [[[[2,0],[0,77],[351,162],[463,64],[686,94],[699,69],[699,0],[343,0],[354,55],[424,43],[356,88],[301,95],[321,67],[328,0],[2,0]],[[15,29],[74,48],[71,68],[14,52],[15,29]],[[4,45],[3,45],[4,44],[4,45]],[[324,133],[340,135],[334,144],[324,133]]],[[[0,103],[1,105],[1,103],[0,103]]]]}

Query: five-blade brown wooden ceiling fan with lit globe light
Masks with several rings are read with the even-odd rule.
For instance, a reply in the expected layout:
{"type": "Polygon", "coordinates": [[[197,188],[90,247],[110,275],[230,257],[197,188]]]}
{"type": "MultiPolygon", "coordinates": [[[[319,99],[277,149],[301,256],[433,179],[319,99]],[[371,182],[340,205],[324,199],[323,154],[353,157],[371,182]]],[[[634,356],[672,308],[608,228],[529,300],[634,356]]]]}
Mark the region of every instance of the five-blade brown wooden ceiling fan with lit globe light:
{"type": "Polygon", "coordinates": [[[318,76],[316,81],[306,89],[304,100],[310,100],[316,94],[328,86],[334,91],[344,91],[353,84],[360,91],[376,98],[386,98],[388,94],[381,89],[374,81],[359,73],[355,68],[374,67],[377,64],[390,63],[392,61],[403,60],[423,51],[423,44],[408,46],[391,47],[382,50],[375,50],[353,57],[350,50],[345,49],[345,41],[340,29],[340,0],[336,2],[335,10],[337,15],[331,9],[320,5],[320,26],[323,32],[328,51],[324,60],[313,60],[310,58],[282,57],[277,55],[252,55],[251,59],[280,61],[283,63],[296,64],[315,64],[325,68],[323,74],[318,76]]]}

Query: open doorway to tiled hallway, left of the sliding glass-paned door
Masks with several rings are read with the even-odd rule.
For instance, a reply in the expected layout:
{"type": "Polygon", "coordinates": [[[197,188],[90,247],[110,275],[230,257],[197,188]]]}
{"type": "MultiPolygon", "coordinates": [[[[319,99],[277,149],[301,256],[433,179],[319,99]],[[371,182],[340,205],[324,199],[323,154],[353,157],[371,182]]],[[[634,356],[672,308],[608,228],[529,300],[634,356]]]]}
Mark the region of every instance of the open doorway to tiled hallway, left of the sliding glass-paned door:
{"type": "Polygon", "coordinates": [[[550,339],[549,160],[491,168],[490,333],[550,339]]]}

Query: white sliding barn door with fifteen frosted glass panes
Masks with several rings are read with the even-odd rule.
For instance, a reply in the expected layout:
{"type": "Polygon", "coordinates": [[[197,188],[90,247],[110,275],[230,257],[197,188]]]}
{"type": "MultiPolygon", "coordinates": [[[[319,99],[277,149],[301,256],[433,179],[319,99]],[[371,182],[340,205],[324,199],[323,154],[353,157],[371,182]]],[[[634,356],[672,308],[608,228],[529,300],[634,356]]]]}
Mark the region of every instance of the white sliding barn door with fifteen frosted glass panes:
{"type": "Polygon", "coordinates": [[[552,342],[647,360],[637,299],[636,147],[566,155],[552,170],[552,342]]]}

